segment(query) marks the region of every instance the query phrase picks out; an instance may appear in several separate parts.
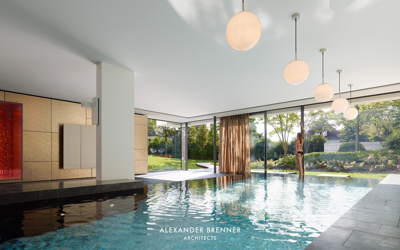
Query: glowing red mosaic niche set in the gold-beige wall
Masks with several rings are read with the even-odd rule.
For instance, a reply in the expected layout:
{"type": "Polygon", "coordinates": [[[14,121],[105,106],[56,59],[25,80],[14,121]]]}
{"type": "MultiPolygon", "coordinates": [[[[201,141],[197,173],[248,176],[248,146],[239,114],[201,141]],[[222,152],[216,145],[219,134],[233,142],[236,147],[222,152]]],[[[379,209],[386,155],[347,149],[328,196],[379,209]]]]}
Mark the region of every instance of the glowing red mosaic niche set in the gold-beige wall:
{"type": "Polygon", "coordinates": [[[22,178],[22,104],[0,101],[0,180],[22,178]]]}

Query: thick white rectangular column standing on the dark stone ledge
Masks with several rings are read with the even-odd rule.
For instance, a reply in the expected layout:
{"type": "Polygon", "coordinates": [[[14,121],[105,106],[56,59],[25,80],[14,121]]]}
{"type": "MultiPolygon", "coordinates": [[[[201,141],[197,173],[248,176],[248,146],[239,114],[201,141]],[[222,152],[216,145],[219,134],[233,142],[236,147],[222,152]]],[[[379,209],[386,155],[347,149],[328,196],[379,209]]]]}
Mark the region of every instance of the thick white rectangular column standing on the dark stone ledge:
{"type": "Polygon", "coordinates": [[[134,180],[134,72],[100,62],[96,82],[96,180],[134,180]]]}

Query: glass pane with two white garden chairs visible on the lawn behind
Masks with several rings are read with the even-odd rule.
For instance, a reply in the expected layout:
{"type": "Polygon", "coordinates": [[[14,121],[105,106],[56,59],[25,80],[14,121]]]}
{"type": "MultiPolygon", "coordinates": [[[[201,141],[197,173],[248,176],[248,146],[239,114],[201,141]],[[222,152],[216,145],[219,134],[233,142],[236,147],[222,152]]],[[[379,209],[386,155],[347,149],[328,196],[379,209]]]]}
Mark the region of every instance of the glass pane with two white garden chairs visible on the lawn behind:
{"type": "Polygon", "coordinates": [[[182,169],[181,124],[148,119],[148,171],[182,169]]]}

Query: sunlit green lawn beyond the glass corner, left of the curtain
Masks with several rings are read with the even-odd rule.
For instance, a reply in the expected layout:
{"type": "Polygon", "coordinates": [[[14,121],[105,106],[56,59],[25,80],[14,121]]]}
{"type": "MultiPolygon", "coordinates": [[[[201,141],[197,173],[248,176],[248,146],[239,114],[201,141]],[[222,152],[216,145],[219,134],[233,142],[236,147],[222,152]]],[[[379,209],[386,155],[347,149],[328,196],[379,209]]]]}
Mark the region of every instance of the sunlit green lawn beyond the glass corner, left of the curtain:
{"type": "MultiPolygon", "coordinates": [[[[180,170],[180,159],[148,155],[147,160],[149,171],[180,170]]],[[[188,160],[188,169],[199,169],[200,167],[197,166],[196,163],[200,162],[208,162],[214,164],[213,160],[188,160]]],[[[182,169],[185,169],[185,166],[182,166],[182,169]]]]}

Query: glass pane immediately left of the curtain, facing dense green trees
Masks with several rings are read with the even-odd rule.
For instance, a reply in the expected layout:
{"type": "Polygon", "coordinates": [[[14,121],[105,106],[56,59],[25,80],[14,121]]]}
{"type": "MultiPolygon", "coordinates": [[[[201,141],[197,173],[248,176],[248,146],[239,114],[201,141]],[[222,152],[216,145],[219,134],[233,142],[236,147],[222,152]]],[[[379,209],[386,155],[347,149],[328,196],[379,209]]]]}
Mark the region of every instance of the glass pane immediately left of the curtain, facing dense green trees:
{"type": "MultiPolygon", "coordinates": [[[[220,124],[216,123],[217,172],[220,124]]],[[[214,121],[188,123],[188,170],[214,171],[214,121]]]]}

